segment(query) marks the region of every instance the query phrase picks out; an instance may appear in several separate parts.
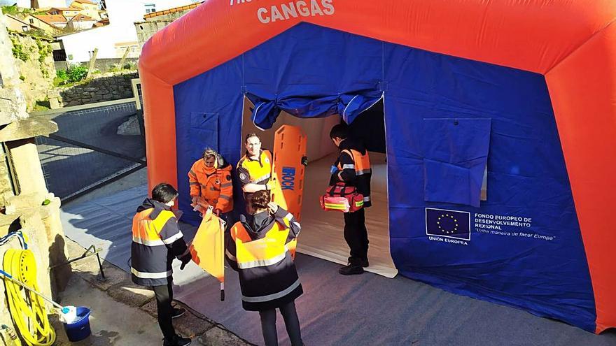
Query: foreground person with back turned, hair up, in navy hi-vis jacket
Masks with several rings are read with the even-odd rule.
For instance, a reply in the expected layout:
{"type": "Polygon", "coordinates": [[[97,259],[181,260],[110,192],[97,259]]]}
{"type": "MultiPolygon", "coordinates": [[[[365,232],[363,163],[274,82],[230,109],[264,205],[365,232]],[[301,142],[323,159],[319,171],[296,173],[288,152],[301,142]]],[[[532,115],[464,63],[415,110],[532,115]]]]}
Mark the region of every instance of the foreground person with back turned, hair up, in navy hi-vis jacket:
{"type": "Polygon", "coordinates": [[[278,345],[276,308],[281,312],[291,345],[302,345],[295,298],[302,293],[289,243],[300,233],[290,212],[270,202],[269,192],[251,194],[254,215],[240,216],[226,236],[226,255],[239,273],[241,304],[258,311],[265,345],[278,345]]]}

